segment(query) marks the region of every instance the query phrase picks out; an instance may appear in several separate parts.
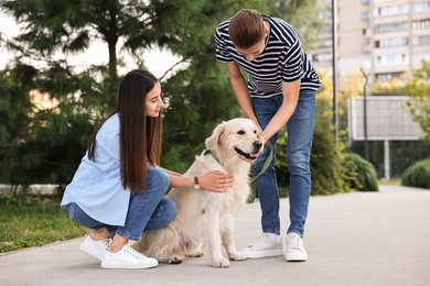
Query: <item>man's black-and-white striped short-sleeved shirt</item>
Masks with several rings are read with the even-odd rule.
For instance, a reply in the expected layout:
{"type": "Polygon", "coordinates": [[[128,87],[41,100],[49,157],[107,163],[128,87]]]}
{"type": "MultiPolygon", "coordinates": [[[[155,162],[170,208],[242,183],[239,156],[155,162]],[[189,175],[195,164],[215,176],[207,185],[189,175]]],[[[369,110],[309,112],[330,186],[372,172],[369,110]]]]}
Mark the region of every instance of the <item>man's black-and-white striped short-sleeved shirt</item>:
{"type": "Polygon", "coordinates": [[[320,78],[308,55],[303,52],[295,29],[278,18],[264,16],[270,24],[269,38],[258,57],[248,62],[237,54],[228,36],[230,19],[215,30],[216,59],[235,62],[248,73],[248,89],[251,97],[271,97],[282,94],[282,81],[301,79],[301,89],[318,90],[320,78]]]}

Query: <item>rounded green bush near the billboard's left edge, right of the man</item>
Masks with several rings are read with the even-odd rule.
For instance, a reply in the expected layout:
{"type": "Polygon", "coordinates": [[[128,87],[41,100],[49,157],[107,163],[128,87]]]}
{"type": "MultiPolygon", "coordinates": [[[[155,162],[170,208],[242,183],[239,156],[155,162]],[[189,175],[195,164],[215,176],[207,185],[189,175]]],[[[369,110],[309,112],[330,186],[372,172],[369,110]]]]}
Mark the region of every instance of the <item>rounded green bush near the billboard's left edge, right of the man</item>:
{"type": "Polygon", "coordinates": [[[345,153],[343,160],[344,180],[355,190],[378,191],[378,177],[375,167],[354,153],[345,153]]]}

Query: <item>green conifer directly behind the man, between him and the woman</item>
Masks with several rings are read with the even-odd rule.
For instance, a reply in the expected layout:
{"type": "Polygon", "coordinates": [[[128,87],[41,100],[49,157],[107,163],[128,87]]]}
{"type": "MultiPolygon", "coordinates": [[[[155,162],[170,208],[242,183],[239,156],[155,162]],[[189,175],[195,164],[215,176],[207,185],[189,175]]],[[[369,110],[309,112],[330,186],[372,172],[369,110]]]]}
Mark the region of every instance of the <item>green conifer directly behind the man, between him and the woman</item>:
{"type": "MultiPolygon", "coordinates": [[[[205,2],[202,11],[207,18],[201,18],[202,21],[196,23],[198,29],[193,36],[194,41],[192,43],[184,41],[184,46],[179,46],[180,48],[175,50],[178,53],[190,51],[183,57],[186,58],[189,66],[166,80],[164,85],[164,96],[169,98],[171,106],[166,110],[166,119],[176,123],[164,129],[164,142],[169,145],[164,148],[163,160],[168,161],[168,165],[184,170],[190,161],[179,160],[175,156],[179,154],[178,148],[182,148],[180,153],[182,157],[193,158],[195,154],[202,152],[204,139],[209,135],[217,123],[241,116],[225,67],[215,61],[213,34],[216,25],[244,7],[257,9],[264,14],[280,16],[288,21],[299,18],[295,16],[299,8],[308,7],[305,14],[312,13],[309,8],[314,0],[298,2],[301,4],[286,6],[284,1],[269,1],[265,4],[260,1],[205,2]],[[196,40],[201,45],[195,45],[196,40]],[[193,143],[190,144],[190,142],[193,143]]],[[[301,28],[309,29],[310,23],[312,22],[303,23],[301,28]]],[[[303,44],[309,44],[308,40],[303,40],[303,44]]]]}

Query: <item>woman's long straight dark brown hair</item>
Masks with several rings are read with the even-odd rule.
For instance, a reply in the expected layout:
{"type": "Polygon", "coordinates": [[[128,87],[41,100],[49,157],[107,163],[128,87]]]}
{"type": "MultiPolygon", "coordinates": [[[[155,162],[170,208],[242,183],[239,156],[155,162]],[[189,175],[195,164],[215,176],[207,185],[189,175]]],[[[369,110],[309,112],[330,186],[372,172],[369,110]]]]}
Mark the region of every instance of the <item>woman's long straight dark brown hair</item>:
{"type": "MultiPolygon", "coordinates": [[[[148,70],[135,69],[128,73],[119,87],[118,107],[108,117],[117,112],[119,114],[122,186],[132,193],[146,189],[148,163],[154,166],[160,164],[161,113],[157,118],[144,113],[146,97],[155,82],[157,77],[148,70]]],[[[98,130],[88,144],[88,158],[94,162],[98,130]]]]}

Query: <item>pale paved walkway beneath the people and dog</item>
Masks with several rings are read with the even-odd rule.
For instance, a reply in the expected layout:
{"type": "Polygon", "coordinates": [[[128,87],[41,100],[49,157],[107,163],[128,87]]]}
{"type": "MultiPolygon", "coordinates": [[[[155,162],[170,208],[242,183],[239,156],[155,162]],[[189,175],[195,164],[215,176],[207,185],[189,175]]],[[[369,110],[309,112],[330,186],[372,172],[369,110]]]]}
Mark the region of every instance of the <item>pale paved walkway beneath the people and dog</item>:
{"type": "MultiPolygon", "coordinates": [[[[312,197],[304,263],[272,257],[214,268],[203,256],[152,270],[107,271],[79,252],[77,239],[0,256],[0,285],[430,285],[430,190],[380,188],[312,197]]],[[[281,204],[287,228],[288,200],[281,204]]],[[[238,210],[238,249],[260,234],[258,202],[238,210]]]]}

